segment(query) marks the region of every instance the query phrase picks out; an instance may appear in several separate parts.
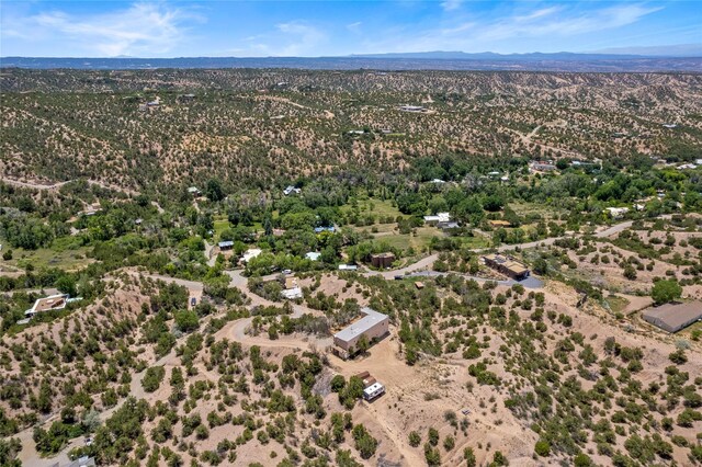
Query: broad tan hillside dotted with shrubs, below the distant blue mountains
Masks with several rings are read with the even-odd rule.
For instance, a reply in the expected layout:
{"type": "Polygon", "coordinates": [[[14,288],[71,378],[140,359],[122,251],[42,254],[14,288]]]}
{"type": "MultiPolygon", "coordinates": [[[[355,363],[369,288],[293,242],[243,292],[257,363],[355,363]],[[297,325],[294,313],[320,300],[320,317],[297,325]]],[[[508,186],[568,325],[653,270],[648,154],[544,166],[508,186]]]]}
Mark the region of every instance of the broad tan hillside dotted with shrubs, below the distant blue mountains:
{"type": "Polygon", "coordinates": [[[702,145],[699,75],[4,69],[0,87],[3,176],[139,191],[444,155],[691,160],[702,145]]]}

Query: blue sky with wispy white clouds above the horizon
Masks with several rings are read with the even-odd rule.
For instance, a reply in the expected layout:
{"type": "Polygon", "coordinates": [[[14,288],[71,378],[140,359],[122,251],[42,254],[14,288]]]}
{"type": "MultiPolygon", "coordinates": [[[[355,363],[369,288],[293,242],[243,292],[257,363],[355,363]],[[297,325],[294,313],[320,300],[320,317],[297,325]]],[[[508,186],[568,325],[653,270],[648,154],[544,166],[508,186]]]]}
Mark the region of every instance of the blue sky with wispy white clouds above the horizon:
{"type": "Polygon", "coordinates": [[[0,56],[702,50],[702,1],[0,1],[0,56]]]}

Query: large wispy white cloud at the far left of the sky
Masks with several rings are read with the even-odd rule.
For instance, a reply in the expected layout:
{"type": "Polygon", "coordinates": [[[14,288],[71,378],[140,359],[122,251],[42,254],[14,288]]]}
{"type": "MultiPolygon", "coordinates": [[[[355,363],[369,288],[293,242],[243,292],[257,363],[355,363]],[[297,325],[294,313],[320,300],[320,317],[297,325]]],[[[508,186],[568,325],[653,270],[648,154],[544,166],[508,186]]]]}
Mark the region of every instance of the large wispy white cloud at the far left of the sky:
{"type": "MultiPolygon", "coordinates": [[[[166,3],[133,3],[128,8],[90,15],[49,11],[13,19],[15,27],[3,35],[26,41],[55,41],[72,50],[100,56],[157,56],[177,48],[186,38],[189,22],[203,19],[192,11],[166,3]]],[[[68,54],[67,54],[68,55],[68,54]]]]}

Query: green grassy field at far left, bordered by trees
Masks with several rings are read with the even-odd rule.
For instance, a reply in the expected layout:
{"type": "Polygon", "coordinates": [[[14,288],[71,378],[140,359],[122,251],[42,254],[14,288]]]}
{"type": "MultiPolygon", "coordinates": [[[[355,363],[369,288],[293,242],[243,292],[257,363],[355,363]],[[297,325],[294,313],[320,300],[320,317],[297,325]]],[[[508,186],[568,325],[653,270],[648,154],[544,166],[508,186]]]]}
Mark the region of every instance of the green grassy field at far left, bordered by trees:
{"type": "Polygon", "coordinates": [[[65,271],[77,271],[92,262],[86,258],[90,247],[78,247],[73,237],[65,237],[54,241],[52,248],[38,250],[12,250],[12,260],[7,261],[11,266],[24,270],[31,264],[35,270],[44,267],[60,267],[65,271]]]}

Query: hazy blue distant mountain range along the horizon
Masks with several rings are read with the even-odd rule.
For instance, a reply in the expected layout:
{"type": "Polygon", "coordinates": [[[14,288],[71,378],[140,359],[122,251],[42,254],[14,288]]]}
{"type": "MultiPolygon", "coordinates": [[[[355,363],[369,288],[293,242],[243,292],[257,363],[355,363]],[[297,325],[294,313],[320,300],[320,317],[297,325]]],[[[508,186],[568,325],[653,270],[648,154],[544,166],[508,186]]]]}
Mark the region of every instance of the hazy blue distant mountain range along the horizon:
{"type": "Polygon", "coordinates": [[[296,68],[330,70],[508,70],[508,71],[600,71],[702,72],[702,53],[691,57],[633,54],[495,54],[464,52],[423,52],[365,54],[347,57],[180,57],[180,58],[50,58],[2,57],[0,67],[76,69],[152,68],[296,68]]]}

